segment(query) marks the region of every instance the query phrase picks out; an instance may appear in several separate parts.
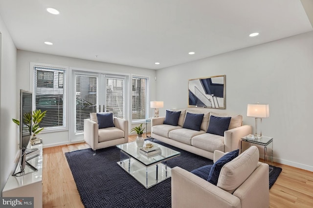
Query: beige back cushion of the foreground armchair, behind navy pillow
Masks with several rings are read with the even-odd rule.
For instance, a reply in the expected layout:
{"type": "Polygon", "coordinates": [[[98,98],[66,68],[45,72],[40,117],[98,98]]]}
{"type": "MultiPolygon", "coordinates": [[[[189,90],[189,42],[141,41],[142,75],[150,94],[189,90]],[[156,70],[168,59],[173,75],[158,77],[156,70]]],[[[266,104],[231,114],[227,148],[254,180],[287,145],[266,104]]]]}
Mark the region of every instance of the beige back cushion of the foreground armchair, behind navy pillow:
{"type": "Polygon", "coordinates": [[[233,193],[257,168],[259,150],[256,146],[249,147],[221,170],[217,186],[233,193]]]}

